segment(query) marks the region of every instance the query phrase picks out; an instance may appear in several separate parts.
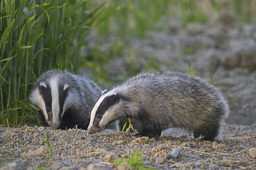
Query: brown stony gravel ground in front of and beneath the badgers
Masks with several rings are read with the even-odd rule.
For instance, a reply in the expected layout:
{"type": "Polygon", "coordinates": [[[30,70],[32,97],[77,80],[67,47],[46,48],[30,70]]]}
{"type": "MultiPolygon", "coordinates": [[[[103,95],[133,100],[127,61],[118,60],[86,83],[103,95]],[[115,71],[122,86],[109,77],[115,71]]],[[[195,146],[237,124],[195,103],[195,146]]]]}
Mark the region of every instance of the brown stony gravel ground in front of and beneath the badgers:
{"type": "Polygon", "coordinates": [[[131,170],[115,160],[135,151],[145,165],[155,169],[253,169],[256,167],[256,124],[226,125],[223,141],[192,138],[183,130],[170,128],[159,139],[136,138],[128,132],[88,134],[85,130],[55,130],[50,127],[0,128],[0,169],[131,170]],[[52,147],[49,157],[47,134],[52,147]],[[172,151],[180,149],[177,158],[172,151]]]}

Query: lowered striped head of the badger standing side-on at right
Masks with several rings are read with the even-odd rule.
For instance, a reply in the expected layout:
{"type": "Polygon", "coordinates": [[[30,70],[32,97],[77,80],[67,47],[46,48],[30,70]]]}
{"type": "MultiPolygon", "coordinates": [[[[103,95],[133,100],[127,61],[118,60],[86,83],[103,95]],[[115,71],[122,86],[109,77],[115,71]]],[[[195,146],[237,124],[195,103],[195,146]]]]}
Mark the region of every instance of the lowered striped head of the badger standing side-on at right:
{"type": "Polygon", "coordinates": [[[106,125],[124,116],[125,98],[104,90],[92,109],[88,133],[97,133],[106,125]]]}

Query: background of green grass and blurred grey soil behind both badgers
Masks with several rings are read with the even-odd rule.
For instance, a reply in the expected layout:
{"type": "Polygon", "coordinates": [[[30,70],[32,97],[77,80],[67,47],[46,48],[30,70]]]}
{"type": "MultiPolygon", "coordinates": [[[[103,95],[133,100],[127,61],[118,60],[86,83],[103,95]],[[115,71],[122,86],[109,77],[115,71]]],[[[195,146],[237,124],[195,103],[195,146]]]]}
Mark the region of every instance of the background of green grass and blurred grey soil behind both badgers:
{"type": "Polygon", "coordinates": [[[49,69],[105,89],[187,65],[221,89],[227,123],[256,123],[255,0],[2,0],[0,8],[0,126],[39,123],[28,96],[49,69]]]}

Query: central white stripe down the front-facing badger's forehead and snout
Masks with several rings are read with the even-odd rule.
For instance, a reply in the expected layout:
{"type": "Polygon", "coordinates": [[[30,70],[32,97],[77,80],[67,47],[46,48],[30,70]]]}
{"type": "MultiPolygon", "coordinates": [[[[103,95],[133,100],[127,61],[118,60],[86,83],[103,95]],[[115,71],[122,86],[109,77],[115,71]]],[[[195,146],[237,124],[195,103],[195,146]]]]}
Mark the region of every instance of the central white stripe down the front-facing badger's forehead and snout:
{"type": "Polygon", "coordinates": [[[58,115],[60,112],[60,105],[58,100],[58,80],[52,78],[49,82],[52,92],[52,127],[58,128],[60,125],[58,115]]]}

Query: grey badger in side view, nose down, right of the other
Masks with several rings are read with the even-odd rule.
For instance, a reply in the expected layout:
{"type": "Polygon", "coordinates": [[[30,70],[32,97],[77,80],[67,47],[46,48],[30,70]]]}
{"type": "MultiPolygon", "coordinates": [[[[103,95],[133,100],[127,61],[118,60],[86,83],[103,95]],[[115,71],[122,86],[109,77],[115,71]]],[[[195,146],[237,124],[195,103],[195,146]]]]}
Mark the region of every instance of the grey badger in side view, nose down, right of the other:
{"type": "Polygon", "coordinates": [[[135,118],[143,130],[136,135],[159,137],[169,127],[202,135],[204,140],[222,140],[229,106],[215,87],[201,78],[165,71],[140,73],[104,90],[90,118],[88,133],[102,130],[120,118],[135,118]]]}

